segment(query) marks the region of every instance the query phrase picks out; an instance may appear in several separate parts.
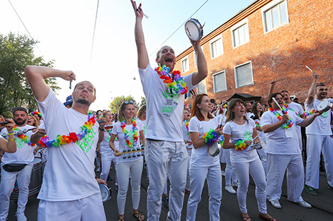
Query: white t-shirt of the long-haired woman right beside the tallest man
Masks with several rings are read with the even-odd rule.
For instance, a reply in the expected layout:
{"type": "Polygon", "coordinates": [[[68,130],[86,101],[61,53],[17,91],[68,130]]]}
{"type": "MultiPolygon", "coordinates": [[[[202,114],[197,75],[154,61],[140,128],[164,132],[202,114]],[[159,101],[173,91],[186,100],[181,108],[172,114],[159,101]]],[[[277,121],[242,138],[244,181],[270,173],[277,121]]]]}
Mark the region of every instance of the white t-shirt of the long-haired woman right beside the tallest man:
{"type": "MultiPolygon", "coordinates": [[[[203,135],[210,129],[216,129],[218,127],[219,118],[214,117],[209,121],[199,121],[198,117],[192,117],[188,125],[188,131],[198,132],[199,139],[203,138],[203,135]]],[[[191,165],[196,167],[210,167],[213,165],[219,165],[220,160],[218,157],[212,157],[208,154],[208,145],[203,145],[200,148],[193,148],[191,155],[191,165]]]]}

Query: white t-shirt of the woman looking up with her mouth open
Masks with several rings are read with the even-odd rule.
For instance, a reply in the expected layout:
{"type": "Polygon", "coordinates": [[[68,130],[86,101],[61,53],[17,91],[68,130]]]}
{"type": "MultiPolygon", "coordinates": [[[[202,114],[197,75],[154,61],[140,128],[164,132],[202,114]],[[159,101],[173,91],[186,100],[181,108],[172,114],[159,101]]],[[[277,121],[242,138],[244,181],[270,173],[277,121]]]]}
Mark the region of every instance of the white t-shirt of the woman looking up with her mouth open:
{"type": "MultiPolygon", "coordinates": [[[[244,124],[238,125],[234,121],[227,121],[223,127],[223,133],[230,134],[230,143],[234,143],[238,139],[242,138],[243,141],[252,141],[253,129],[256,128],[256,123],[253,119],[249,119],[249,122],[245,121],[244,124]]],[[[230,160],[231,162],[251,162],[256,160],[258,154],[256,150],[252,150],[247,147],[245,150],[230,149],[230,160]]]]}

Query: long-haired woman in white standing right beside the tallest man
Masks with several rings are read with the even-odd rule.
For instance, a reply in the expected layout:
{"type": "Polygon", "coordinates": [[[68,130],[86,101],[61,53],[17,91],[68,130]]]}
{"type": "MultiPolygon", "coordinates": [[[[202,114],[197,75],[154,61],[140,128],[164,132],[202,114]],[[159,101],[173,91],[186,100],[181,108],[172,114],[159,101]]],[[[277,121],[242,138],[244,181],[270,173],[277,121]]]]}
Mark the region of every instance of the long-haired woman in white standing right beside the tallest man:
{"type": "Polygon", "coordinates": [[[186,220],[196,220],[196,210],[201,201],[201,193],[205,179],[208,183],[209,217],[210,220],[220,220],[220,205],[222,199],[222,175],[220,160],[208,154],[207,143],[214,143],[222,133],[219,118],[213,117],[210,112],[213,105],[207,95],[197,95],[193,100],[189,131],[194,149],[192,149],[190,162],[190,188],[186,220]],[[208,134],[206,134],[208,133],[208,134]],[[204,136],[204,138],[203,138],[204,136]],[[213,136],[213,139],[209,137],[213,136]]]}

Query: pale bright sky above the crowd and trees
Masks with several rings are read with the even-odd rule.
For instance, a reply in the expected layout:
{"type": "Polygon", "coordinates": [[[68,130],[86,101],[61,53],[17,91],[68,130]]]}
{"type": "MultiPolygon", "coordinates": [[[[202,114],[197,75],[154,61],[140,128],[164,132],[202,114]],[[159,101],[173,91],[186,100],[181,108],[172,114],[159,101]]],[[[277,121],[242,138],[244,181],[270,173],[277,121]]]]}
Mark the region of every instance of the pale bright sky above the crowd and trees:
{"type": "MultiPolygon", "coordinates": [[[[137,71],[135,13],[130,0],[100,0],[99,4],[98,0],[1,0],[2,35],[9,32],[29,35],[10,2],[30,35],[39,41],[35,56],[43,56],[45,61],[54,60],[54,68],[74,71],[77,81],[72,83],[72,89],[82,80],[95,85],[96,101],[90,109],[108,109],[113,98],[121,95],[132,95],[137,102],[145,96],[137,71]]],[[[142,0],[142,10],[149,16],[142,23],[147,51],[152,54],[149,56],[152,67],[157,66],[154,60],[162,45],[173,47],[176,54],[191,47],[184,23],[201,6],[192,18],[202,25],[205,23],[205,36],[252,2],[254,0],[142,0]],[[164,42],[172,33],[174,35],[164,42]]],[[[57,83],[62,88],[57,91],[57,97],[65,102],[72,94],[69,82],[57,78],[57,83]]]]}

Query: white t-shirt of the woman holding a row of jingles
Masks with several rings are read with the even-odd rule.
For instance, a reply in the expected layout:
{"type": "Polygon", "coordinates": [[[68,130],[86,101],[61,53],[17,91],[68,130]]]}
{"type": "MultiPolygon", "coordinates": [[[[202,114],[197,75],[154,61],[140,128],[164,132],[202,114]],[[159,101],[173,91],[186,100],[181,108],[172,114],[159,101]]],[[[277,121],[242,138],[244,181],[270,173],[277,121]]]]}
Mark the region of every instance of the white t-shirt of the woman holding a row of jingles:
{"type": "MultiPolygon", "coordinates": [[[[123,153],[123,150],[135,150],[134,148],[132,149],[132,148],[128,147],[128,145],[126,144],[125,133],[123,133],[123,129],[120,126],[121,126],[121,122],[118,121],[117,123],[115,123],[113,125],[113,129],[112,129],[112,133],[118,136],[118,141],[119,141],[118,150],[119,150],[119,152],[123,153]]],[[[130,124],[130,125],[126,124],[125,130],[128,131],[129,137],[130,137],[130,142],[133,143],[133,131],[132,131],[132,129],[133,129],[133,124],[130,124]]],[[[140,133],[139,133],[140,131],[142,131],[142,124],[137,123],[137,136],[138,136],[138,138],[137,138],[136,149],[141,148],[140,133]]],[[[117,157],[117,162],[132,162],[132,161],[135,161],[135,160],[140,160],[142,158],[141,153],[142,152],[128,153],[128,154],[120,155],[119,157],[117,157]],[[140,156],[138,157],[137,155],[140,155],[140,156]],[[130,158],[129,158],[129,156],[130,156],[130,158]],[[133,157],[133,156],[135,156],[135,157],[133,157]],[[126,157],[126,158],[124,159],[124,157],[126,157]]]]}

